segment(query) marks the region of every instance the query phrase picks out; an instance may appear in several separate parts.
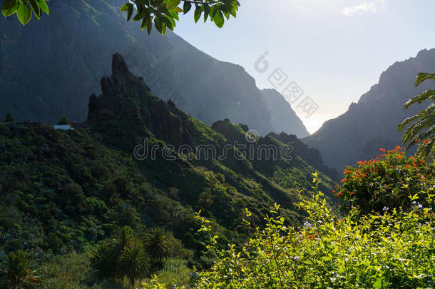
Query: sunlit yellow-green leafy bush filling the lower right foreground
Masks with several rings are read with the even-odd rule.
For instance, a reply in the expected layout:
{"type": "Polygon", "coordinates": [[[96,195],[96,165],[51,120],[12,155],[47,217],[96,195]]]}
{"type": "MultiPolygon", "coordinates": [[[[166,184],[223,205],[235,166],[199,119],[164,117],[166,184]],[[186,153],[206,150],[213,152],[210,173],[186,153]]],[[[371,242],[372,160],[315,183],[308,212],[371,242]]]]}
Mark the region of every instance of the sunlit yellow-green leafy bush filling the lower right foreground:
{"type": "MultiPolygon", "coordinates": [[[[314,176],[317,188],[317,176],[314,176]]],[[[434,188],[412,198],[431,203],[434,188]]],[[[229,245],[200,273],[195,288],[434,288],[434,214],[429,208],[392,208],[337,220],[322,193],[298,206],[308,213],[301,228],[287,228],[275,206],[265,228],[240,250],[229,245]]],[[[250,228],[247,211],[245,225],[250,228]]],[[[205,218],[203,230],[208,232],[205,218]]],[[[211,237],[211,236],[210,236],[211,237]]],[[[213,246],[217,236],[213,236],[213,246]]],[[[158,280],[144,288],[159,287],[158,280]]]]}

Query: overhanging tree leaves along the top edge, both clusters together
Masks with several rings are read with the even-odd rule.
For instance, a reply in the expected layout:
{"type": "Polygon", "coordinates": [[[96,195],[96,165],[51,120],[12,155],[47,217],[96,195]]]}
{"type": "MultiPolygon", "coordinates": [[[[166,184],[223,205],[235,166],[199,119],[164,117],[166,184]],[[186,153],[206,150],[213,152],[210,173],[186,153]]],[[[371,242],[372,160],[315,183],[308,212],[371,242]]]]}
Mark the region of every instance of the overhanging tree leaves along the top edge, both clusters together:
{"type": "MultiPolygon", "coordinates": [[[[155,26],[155,29],[164,35],[167,29],[175,29],[175,21],[179,20],[179,14],[187,14],[193,6],[195,6],[193,12],[195,22],[203,16],[204,22],[210,19],[221,28],[225,18],[228,20],[230,16],[236,16],[240,2],[237,0],[131,0],[121,7],[121,11],[127,11],[127,21],[130,21],[135,14],[132,20],[141,21],[140,28],[147,29],[148,34],[155,26]]],[[[37,19],[41,18],[42,12],[48,15],[48,6],[46,0],[4,0],[1,12],[6,17],[16,14],[21,24],[26,25],[31,19],[32,12],[37,19]]]]}

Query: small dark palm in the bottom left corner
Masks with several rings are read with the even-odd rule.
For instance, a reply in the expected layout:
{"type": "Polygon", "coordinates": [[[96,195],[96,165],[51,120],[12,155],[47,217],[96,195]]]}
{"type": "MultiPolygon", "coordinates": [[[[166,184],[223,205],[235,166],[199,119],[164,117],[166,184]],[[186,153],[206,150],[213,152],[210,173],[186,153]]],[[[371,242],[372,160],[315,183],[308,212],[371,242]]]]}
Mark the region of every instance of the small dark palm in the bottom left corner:
{"type": "Polygon", "coordinates": [[[1,288],[40,288],[42,283],[39,270],[23,251],[9,253],[0,264],[1,288]]]}

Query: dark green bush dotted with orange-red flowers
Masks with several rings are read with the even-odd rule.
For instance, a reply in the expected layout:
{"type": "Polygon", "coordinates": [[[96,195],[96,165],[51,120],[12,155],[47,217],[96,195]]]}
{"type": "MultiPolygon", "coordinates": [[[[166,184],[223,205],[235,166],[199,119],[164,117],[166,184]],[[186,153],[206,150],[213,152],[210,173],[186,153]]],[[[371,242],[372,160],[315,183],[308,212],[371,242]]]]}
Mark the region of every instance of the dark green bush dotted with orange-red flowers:
{"type": "Polygon", "coordinates": [[[421,196],[435,185],[433,162],[426,163],[418,154],[407,158],[400,146],[387,152],[381,148],[381,152],[374,160],[359,161],[357,168],[345,169],[342,186],[333,193],[344,201],[347,210],[357,206],[365,214],[387,208],[411,208],[410,194],[421,196]]]}

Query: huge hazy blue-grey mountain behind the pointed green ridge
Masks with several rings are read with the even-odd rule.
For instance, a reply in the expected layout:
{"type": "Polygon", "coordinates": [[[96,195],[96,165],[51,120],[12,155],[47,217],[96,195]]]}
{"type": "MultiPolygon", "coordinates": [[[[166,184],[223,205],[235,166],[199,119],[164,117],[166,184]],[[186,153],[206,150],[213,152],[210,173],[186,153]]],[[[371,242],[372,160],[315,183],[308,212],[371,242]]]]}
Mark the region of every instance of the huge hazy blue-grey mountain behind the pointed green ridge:
{"type": "MultiPolygon", "coordinates": [[[[206,124],[230,118],[262,135],[274,131],[270,107],[245,69],[213,59],[173,33],[148,36],[119,12],[125,2],[56,0],[50,16],[25,27],[16,17],[1,17],[0,115],[10,109],[21,120],[55,123],[66,115],[84,121],[86,96],[100,91],[98,79],[110,71],[107,59],[119,52],[160,98],[206,124]]],[[[288,105],[280,111],[286,114],[294,116],[288,105]]],[[[299,136],[300,120],[285,118],[290,120],[295,123],[277,129],[299,136]]]]}

